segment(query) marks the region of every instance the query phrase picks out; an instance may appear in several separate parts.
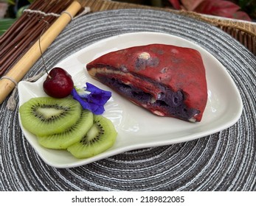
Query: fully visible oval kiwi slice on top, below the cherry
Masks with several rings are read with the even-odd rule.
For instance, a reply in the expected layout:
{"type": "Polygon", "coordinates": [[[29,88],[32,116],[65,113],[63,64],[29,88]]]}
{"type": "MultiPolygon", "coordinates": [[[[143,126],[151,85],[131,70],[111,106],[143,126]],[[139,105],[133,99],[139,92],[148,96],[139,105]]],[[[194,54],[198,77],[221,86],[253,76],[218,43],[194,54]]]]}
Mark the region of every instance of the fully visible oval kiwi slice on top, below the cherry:
{"type": "Polygon", "coordinates": [[[82,107],[75,99],[35,97],[19,108],[21,124],[34,135],[60,133],[75,124],[82,107]]]}

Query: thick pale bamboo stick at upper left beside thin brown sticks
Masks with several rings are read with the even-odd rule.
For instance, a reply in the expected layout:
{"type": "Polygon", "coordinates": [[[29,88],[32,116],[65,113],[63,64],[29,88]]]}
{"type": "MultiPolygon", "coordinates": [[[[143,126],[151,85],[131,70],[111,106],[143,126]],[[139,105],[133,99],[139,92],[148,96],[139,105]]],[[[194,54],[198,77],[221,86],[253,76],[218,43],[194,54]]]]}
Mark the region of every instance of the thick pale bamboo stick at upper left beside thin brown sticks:
{"type": "MultiPolygon", "coordinates": [[[[51,43],[58,37],[60,32],[65,28],[67,24],[72,20],[69,16],[74,17],[81,9],[81,5],[78,1],[73,1],[72,4],[66,9],[65,13],[62,13],[60,17],[44,32],[41,36],[41,50],[44,53],[51,43]]],[[[4,102],[4,99],[15,88],[15,82],[21,81],[21,79],[30,71],[32,65],[41,57],[41,51],[39,48],[39,40],[24,54],[23,57],[10,69],[10,71],[2,77],[0,80],[0,104],[4,102]],[[7,78],[5,78],[7,77],[7,78]],[[15,82],[13,82],[15,81],[15,82]]]]}

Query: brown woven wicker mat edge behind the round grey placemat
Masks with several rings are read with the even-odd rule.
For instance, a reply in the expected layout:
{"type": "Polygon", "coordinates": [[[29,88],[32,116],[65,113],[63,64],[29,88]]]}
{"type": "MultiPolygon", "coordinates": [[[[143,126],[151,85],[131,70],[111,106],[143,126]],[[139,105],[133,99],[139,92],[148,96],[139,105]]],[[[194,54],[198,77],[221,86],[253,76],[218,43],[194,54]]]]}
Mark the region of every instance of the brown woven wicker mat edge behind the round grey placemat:
{"type": "Polygon", "coordinates": [[[215,18],[206,17],[205,15],[200,15],[198,13],[189,13],[186,11],[176,11],[168,8],[160,7],[150,7],[140,4],[129,4],[117,1],[108,0],[84,0],[86,6],[91,7],[92,12],[104,11],[104,10],[119,10],[119,9],[154,9],[154,10],[165,10],[170,13],[178,13],[180,15],[188,15],[190,18],[196,18],[207,22],[209,24],[218,26],[224,32],[232,35],[233,38],[238,40],[243,46],[246,46],[249,51],[252,51],[256,55],[256,24],[245,21],[234,21],[232,19],[226,18],[215,18]]]}

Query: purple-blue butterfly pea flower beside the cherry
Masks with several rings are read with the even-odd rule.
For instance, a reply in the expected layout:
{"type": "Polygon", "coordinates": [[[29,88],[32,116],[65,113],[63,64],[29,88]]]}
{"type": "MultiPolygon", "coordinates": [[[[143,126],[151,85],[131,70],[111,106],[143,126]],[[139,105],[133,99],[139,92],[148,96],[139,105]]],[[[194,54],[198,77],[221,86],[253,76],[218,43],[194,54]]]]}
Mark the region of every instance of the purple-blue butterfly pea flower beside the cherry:
{"type": "Polygon", "coordinates": [[[90,110],[95,115],[104,113],[104,104],[111,98],[111,91],[97,88],[89,82],[86,82],[86,87],[83,89],[74,88],[71,94],[80,102],[84,110],[90,110]]]}

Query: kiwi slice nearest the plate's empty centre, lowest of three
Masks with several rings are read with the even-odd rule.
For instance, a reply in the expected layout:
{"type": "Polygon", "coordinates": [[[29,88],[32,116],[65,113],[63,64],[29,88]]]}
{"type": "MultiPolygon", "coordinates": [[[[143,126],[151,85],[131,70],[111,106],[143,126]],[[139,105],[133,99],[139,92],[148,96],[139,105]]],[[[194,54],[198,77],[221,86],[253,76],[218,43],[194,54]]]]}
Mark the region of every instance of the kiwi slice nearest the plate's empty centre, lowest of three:
{"type": "Polygon", "coordinates": [[[94,123],[89,132],[67,150],[77,158],[93,157],[114,145],[117,131],[112,122],[103,116],[94,115],[94,123]]]}

